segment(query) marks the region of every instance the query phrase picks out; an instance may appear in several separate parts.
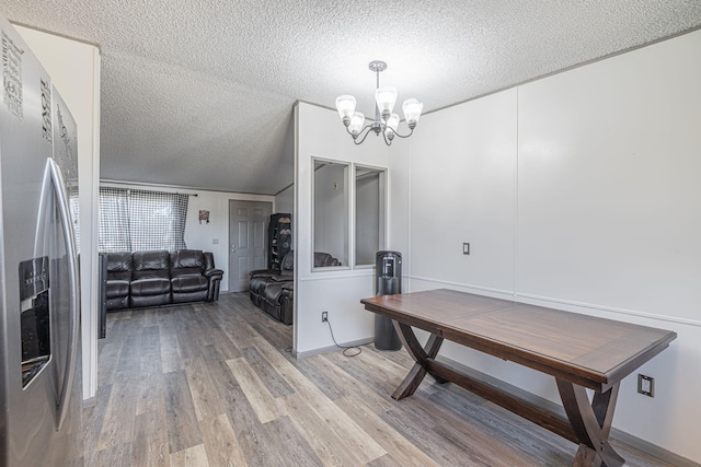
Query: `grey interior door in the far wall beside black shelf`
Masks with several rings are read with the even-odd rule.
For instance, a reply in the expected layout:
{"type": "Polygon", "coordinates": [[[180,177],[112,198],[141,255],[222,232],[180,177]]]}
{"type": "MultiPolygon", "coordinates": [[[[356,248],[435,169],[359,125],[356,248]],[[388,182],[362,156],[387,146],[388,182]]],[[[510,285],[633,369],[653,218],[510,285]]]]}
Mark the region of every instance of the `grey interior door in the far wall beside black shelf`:
{"type": "Polygon", "coordinates": [[[229,291],[249,290],[249,272],[266,268],[267,222],[273,203],[229,200],[229,291]]]}

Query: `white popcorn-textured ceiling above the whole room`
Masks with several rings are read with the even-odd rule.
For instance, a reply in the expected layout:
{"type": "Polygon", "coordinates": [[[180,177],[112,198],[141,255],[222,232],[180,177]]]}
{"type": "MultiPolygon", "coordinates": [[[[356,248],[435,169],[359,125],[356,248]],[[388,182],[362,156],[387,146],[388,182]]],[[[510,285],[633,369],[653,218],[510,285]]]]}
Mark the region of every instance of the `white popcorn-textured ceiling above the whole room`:
{"type": "Polygon", "coordinates": [[[0,12],[101,47],[103,179],[257,194],[294,180],[297,100],[333,107],[350,93],[372,115],[371,60],[426,113],[701,26],[700,0],[2,0],[0,12]]]}

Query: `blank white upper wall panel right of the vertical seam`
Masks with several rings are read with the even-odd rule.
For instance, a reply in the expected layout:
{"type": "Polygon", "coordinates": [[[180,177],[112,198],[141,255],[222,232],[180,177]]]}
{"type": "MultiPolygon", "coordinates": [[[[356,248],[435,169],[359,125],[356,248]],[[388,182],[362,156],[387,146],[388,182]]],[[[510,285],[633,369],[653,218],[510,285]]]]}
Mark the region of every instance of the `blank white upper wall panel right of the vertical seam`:
{"type": "Polygon", "coordinates": [[[701,322],[700,38],[519,87],[519,293],[701,322]]]}

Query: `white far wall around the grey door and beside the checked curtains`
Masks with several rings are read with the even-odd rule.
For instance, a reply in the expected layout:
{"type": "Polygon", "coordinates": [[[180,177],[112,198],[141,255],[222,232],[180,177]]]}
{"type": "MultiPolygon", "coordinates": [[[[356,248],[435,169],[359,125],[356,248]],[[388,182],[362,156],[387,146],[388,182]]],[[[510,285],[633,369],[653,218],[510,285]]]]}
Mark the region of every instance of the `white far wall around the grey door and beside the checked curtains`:
{"type": "Polygon", "coordinates": [[[215,266],[223,270],[221,291],[229,291],[229,200],[265,201],[273,203],[275,211],[275,197],[267,195],[249,195],[239,192],[195,190],[186,188],[173,188],[151,186],[142,184],[122,184],[104,182],[102,186],[119,188],[146,189],[153,191],[181,192],[191,196],[187,203],[187,220],[185,222],[185,244],[192,249],[211,252],[215,266]],[[199,210],[209,211],[209,223],[199,223],[199,210]]]}

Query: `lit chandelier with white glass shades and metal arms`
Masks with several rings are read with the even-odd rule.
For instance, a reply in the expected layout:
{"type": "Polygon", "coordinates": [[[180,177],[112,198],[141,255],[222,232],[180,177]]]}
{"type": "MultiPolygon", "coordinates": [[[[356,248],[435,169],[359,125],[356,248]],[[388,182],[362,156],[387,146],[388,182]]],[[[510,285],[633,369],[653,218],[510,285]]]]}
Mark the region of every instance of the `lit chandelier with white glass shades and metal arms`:
{"type": "Polygon", "coordinates": [[[397,102],[397,89],[392,86],[380,87],[380,72],[387,70],[387,63],[375,60],[368,65],[368,68],[370,71],[377,73],[375,121],[365,125],[365,115],[360,112],[355,112],[355,97],[352,95],[340,95],[336,98],[336,109],[338,110],[343,125],[346,127],[346,131],[353,137],[353,142],[361,144],[370,131],[375,131],[376,136],[382,133],[387,145],[392,144],[395,136],[400,138],[411,137],[416,127],[416,122],[418,122],[424,104],[413,97],[404,101],[402,109],[404,110],[404,119],[406,120],[406,125],[409,125],[410,131],[409,135],[398,133],[399,115],[392,114],[392,108],[397,102]]]}

